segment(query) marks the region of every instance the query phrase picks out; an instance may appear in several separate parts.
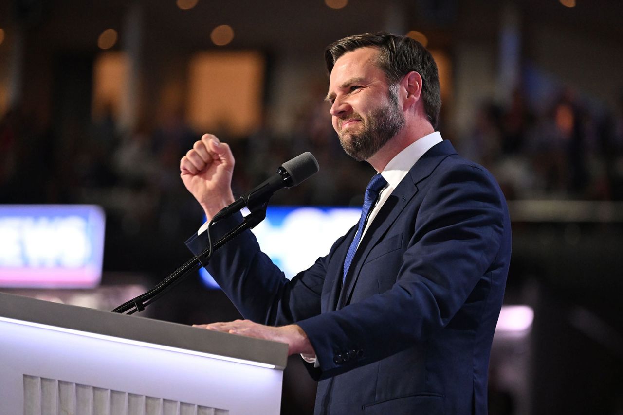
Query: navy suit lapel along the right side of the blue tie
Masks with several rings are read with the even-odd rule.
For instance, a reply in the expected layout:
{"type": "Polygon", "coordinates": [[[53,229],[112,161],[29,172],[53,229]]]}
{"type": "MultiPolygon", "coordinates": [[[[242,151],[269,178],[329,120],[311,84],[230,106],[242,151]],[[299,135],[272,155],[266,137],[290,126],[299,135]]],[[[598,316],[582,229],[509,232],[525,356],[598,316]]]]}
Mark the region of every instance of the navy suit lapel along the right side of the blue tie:
{"type": "MultiPolygon", "coordinates": [[[[353,258],[353,263],[351,264],[351,271],[349,271],[348,276],[346,276],[345,287],[343,287],[341,292],[336,291],[336,296],[339,294],[339,300],[337,303],[338,309],[350,302],[354,286],[359,278],[359,272],[361,271],[368,254],[372,248],[374,248],[374,246],[382,240],[392,223],[396,221],[402,210],[404,210],[411,199],[417,194],[419,190],[417,184],[429,177],[435,167],[437,167],[439,163],[445,159],[445,157],[450,156],[450,154],[456,154],[456,151],[449,141],[442,141],[430,148],[429,151],[427,151],[416,162],[416,164],[411,167],[409,173],[397,185],[388,200],[386,200],[359,244],[359,249],[357,249],[357,252],[353,258]]],[[[354,233],[353,235],[350,235],[350,238],[346,238],[349,244],[350,241],[353,240],[353,237],[354,233]]],[[[346,249],[348,249],[348,246],[346,249]]],[[[343,256],[341,256],[342,263],[345,256],[346,251],[344,251],[343,256]]],[[[337,285],[339,286],[340,284],[337,285]]],[[[331,294],[333,294],[333,292],[331,292],[331,294]]],[[[332,297],[332,299],[333,298],[335,297],[332,297]]]]}

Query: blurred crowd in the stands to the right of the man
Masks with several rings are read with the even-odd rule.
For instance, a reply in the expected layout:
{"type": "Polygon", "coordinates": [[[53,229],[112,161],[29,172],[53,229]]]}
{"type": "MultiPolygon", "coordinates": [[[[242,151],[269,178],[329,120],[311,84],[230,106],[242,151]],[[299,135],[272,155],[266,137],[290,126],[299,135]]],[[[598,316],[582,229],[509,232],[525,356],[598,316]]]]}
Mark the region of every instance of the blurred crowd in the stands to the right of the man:
{"type": "Polygon", "coordinates": [[[623,94],[605,111],[565,90],[538,111],[515,91],[508,106],[482,103],[458,147],[509,200],[623,200],[623,94]]]}

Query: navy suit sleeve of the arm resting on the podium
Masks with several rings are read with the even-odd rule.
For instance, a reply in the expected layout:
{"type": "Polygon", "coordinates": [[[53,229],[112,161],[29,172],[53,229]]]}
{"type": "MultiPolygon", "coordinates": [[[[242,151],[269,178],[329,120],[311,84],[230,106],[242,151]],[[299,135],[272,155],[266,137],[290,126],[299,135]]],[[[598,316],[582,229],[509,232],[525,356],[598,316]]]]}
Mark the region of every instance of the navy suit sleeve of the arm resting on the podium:
{"type": "Polygon", "coordinates": [[[320,361],[316,378],[426,341],[450,322],[478,280],[487,277],[509,231],[504,229],[505,202],[495,180],[462,164],[427,181],[394,286],[297,323],[320,361]]]}

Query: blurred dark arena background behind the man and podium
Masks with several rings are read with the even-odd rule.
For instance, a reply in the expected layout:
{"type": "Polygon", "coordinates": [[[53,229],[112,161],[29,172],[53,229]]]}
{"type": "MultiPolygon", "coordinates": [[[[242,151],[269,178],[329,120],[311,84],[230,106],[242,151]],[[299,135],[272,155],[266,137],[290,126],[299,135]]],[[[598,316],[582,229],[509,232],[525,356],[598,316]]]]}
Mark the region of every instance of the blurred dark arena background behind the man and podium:
{"type": "MultiPolygon", "coordinates": [[[[272,204],[359,207],[373,169],[331,128],[323,51],[407,34],[439,66],[439,131],[511,210],[490,413],[623,414],[621,17],[620,0],[0,0],[0,203],[105,213],[98,287],[2,290],[112,309],[172,273],[202,223],[179,179],[202,133],[231,144],[235,195],[311,151],[320,172],[272,204]]],[[[239,317],[198,276],[144,314],[239,317]]],[[[291,358],[282,413],[314,394],[291,358]]]]}

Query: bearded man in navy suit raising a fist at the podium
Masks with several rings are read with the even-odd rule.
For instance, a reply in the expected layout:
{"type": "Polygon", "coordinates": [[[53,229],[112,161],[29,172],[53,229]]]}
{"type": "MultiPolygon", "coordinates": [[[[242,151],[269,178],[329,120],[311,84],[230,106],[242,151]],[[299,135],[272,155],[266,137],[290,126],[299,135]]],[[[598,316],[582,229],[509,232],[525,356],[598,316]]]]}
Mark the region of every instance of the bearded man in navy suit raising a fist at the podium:
{"type": "MultiPolygon", "coordinates": [[[[247,320],[201,327],[288,343],[320,380],[316,414],[487,414],[510,261],[502,192],[435,132],[439,80],[422,45],[363,34],[325,56],[333,128],[380,173],[366,190],[369,215],[292,281],[250,231],[239,236],[209,271],[247,320]]],[[[181,160],[208,218],[234,201],[233,169],[227,144],[209,134],[181,160]]],[[[199,253],[205,232],[187,244],[199,253]]]]}

